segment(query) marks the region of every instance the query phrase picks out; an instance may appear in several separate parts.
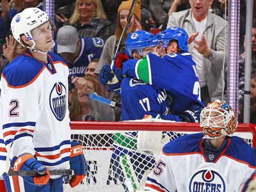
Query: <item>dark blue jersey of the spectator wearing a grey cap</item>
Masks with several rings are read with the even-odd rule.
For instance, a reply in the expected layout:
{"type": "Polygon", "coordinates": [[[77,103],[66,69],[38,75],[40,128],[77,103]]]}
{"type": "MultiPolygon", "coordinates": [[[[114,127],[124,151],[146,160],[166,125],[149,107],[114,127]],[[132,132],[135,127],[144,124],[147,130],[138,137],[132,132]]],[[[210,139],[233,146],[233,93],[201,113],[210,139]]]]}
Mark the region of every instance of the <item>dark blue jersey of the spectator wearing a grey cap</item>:
{"type": "Polygon", "coordinates": [[[76,60],[73,63],[68,62],[70,80],[72,76],[82,77],[85,74],[86,67],[94,60],[99,59],[103,50],[104,41],[99,38],[81,38],[81,49],[76,60]]]}

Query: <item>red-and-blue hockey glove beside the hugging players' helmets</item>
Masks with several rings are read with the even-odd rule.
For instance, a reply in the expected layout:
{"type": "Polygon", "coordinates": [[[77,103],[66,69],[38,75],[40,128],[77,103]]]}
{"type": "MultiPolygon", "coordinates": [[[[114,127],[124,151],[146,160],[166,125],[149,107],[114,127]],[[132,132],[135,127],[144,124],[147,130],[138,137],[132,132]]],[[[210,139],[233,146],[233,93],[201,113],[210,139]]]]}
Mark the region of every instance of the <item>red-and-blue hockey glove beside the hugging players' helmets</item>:
{"type": "Polygon", "coordinates": [[[121,51],[116,54],[114,58],[113,72],[117,79],[122,81],[123,79],[123,63],[129,60],[129,54],[127,52],[121,51]]]}

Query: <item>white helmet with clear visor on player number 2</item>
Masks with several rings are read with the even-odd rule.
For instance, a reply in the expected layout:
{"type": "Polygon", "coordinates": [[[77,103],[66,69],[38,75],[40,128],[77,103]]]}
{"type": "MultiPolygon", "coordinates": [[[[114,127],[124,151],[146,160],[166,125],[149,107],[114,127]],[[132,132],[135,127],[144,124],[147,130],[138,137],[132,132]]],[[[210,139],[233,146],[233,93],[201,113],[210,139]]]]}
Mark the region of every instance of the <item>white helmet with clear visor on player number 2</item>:
{"type": "MultiPolygon", "coordinates": [[[[29,49],[35,52],[41,52],[46,54],[47,52],[42,52],[35,48],[36,43],[33,40],[32,35],[33,29],[44,24],[45,22],[49,23],[51,33],[53,33],[56,30],[54,22],[51,20],[51,18],[47,16],[44,11],[38,8],[26,8],[23,12],[17,13],[17,15],[15,15],[12,19],[11,29],[13,37],[23,47],[28,47],[27,45],[24,45],[21,40],[21,36],[25,35],[28,40],[31,40],[31,42],[33,42],[33,45],[31,47],[28,47],[29,49]]],[[[53,46],[54,41],[52,40],[52,47],[53,46]]]]}

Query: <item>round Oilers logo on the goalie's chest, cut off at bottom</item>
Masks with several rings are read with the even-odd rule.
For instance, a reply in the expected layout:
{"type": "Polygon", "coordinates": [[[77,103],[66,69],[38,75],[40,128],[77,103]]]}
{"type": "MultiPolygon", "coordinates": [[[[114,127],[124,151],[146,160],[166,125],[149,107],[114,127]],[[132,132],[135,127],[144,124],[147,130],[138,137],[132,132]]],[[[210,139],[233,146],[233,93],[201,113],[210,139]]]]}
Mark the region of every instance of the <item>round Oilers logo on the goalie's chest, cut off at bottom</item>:
{"type": "Polygon", "coordinates": [[[225,192],[225,180],[213,170],[200,170],[190,179],[189,192],[225,192]]]}

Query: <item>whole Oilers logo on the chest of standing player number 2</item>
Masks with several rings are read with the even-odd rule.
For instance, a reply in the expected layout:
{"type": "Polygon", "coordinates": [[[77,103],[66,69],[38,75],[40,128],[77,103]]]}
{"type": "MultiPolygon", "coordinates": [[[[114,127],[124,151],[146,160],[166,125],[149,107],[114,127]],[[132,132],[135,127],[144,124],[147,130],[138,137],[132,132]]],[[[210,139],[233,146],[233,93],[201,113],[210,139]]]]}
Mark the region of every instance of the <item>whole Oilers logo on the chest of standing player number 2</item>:
{"type": "Polygon", "coordinates": [[[67,110],[67,90],[60,82],[55,83],[51,90],[50,108],[56,119],[62,121],[67,110]]]}

